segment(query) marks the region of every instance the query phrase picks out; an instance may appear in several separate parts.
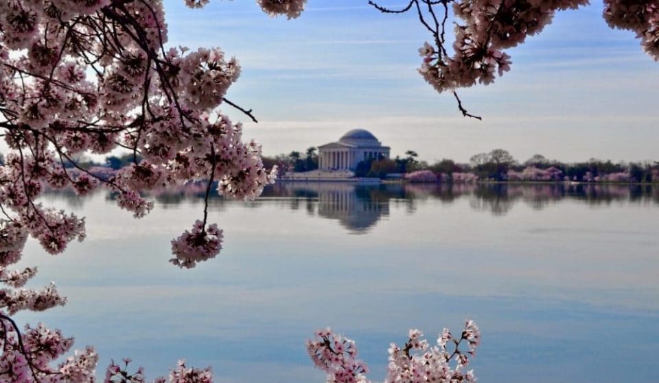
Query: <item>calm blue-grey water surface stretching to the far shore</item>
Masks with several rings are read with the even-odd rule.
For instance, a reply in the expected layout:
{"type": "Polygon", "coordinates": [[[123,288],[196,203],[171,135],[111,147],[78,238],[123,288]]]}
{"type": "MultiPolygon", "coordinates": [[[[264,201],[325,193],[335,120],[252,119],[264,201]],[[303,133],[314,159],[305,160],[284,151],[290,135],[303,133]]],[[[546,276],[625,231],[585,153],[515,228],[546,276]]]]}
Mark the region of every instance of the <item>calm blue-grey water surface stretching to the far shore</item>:
{"type": "Polygon", "coordinates": [[[130,356],[154,378],[185,357],[217,382],[324,382],[304,341],[330,326],[382,380],[408,328],[433,339],[470,317],[481,382],[658,382],[658,188],[276,185],[213,199],[224,250],[190,271],[167,259],[201,217],[194,191],[139,221],[107,195],[46,199],[89,235],[58,259],[28,243],[32,286],[54,280],[69,304],[19,319],[95,345],[99,373],[130,356]]]}

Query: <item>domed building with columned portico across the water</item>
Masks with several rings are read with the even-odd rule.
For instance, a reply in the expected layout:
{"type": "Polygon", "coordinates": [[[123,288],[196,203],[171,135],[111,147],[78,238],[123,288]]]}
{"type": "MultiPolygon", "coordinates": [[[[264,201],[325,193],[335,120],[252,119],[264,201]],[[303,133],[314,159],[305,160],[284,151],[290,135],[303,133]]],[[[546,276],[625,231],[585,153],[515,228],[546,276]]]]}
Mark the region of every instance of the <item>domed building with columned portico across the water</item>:
{"type": "Polygon", "coordinates": [[[373,159],[389,158],[391,148],[382,143],[366,129],[352,129],[336,143],[318,147],[319,169],[355,170],[357,164],[373,159]]]}

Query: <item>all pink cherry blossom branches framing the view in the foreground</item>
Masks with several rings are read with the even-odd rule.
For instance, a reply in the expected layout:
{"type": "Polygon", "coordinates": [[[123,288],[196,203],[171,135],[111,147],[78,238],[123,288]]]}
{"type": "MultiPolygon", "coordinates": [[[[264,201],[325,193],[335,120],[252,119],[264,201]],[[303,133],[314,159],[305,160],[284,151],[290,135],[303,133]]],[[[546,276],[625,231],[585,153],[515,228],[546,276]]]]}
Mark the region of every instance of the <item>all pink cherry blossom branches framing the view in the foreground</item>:
{"type": "MultiPolygon", "coordinates": [[[[202,8],[208,0],[185,2],[202,8]]],[[[418,11],[421,25],[432,36],[432,43],[426,42],[420,50],[421,75],[438,91],[452,92],[459,110],[473,116],[463,108],[455,88],[489,84],[496,70],[499,75],[509,70],[511,62],[502,49],[540,32],[555,10],[586,2],[411,0],[400,10],[371,4],[387,13],[418,11]],[[450,9],[461,20],[453,55],[445,40],[450,9]]],[[[305,0],[257,3],[268,14],[296,18],[305,0]]],[[[635,31],[644,49],[657,58],[659,2],[607,0],[605,4],[608,23],[635,31]]],[[[207,221],[213,185],[222,195],[253,199],[274,180],[274,169],[264,169],[259,145],[244,142],[241,124],[218,110],[220,106],[237,108],[256,121],[251,110],[226,97],[239,75],[238,61],[217,47],[189,51],[167,46],[161,0],[8,0],[0,4],[0,136],[10,148],[0,166],[0,282],[5,285],[0,290],[0,381],[95,380],[93,348],[58,362],[73,345],[72,338],[41,324],[21,329],[12,319],[20,310],[47,310],[66,302],[54,285],[41,290],[23,288],[36,268],[10,269],[21,258],[28,236],[51,254],[60,254],[71,240],[85,236],[84,219],[38,202],[44,188],[70,187],[79,195],[105,188],[117,196],[119,207],[139,218],[153,207],[141,191],[204,181],[202,217],[172,240],[171,262],[194,267],[219,253],[222,230],[207,221]],[[132,153],[134,160],[112,177],[100,177],[76,162],[82,153],[103,154],[117,148],[132,153]],[[73,164],[76,171],[69,171],[65,164],[73,164]]],[[[475,347],[476,333],[475,325],[467,322],[460,341],[475,347]]],[[[319,336],[316,342],[321,343],[310,344],[315,350],[312,356],[332,376],[331,381],[362,380],[365,368],[353,364],[354,355],[338,358],[345,355],[336,348],[343,341],[326,332],[319,336]],[[338,343],[332,346],[330,340],[338,343]]],[[[423,369],[428,376],[459,374],[462,380],[471,379],[462,369],[468,353],[448,355],[443,348],[448,340],[443,345],[440,341],[439,348],[428,348],[419,336],[411,333],[404,349],[390,350],[391,380],[412,373],[416,382],[418,376],[426,376],[416,375],[423,369]],[[413,356],[409,351],[426,353],[413,356]],[[448,367],[452,358],[457,358],[459,367],[448,367]]],[[[113,362],[106,382],[143,382],[141,369],[128,373],[129,362],[113,362]]],[[[211,373],[181,362],[170,372],[169,381],[211,382],[211,373]]]]}

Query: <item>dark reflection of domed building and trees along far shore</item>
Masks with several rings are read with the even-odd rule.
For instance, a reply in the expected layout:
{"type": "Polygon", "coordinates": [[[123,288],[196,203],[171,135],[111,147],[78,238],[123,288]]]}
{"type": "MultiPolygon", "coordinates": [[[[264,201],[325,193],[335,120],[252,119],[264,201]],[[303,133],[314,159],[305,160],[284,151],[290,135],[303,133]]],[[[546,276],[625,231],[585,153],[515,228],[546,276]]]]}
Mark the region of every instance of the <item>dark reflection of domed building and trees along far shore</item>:
{"type": "MultiPolygon", "coordinates": [[[[180,203],[201,205],[205,184],[196,183],[150,193],[163,208],[180,203]]],[[[80,208],[84,199],[72,191],[56,193],[69,208],[80,208]]],[[[106,195],[113,200],[114,195],[106,195]]],[[[286,182],[268,186],[256,201],[233,201],[211,194],[210,206],[220,212],[228,203],[242,203],[246,208],[259,208],[265,200],[274,200],[291,210],[305,209],[308,214],[332,219],[351,234],[365,234],[380,219],[389,217],[391,203],[404,205],[408,214],[429,200],[454,203],[467,199],[469,206],[494,216],[508,214],[518,203],[533,210],[543,210],[553,203],[576,201],[590,206],[611,203],[659,204],[659,187],[651,185],[594,184],[380,184],[359,185],[343,182],[286,182]]]]}

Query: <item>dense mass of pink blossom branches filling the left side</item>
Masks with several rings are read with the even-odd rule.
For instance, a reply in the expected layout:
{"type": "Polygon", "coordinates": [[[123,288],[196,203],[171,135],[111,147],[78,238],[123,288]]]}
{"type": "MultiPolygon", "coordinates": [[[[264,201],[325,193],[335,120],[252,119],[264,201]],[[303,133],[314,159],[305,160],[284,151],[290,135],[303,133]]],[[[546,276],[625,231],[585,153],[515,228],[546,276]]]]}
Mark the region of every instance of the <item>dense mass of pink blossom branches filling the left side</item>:
{"type": "MultiPolygon", "coordinates": [[[[207,0],[188,0],[199,8],[207,0]]],[[[297,17],[304,1],[259,1],[268,14],[297,17]]],[[[97,356],[69,354],[72,338],[43,325],[19,330],[12,315],[64,305],[54,284],[25,288],[37,269],[12,269],[28,237],[51,254],[86,236],[84,218],[43,206],[48,189],[87,195],[104,188],[120,208],[143,217],[145,192],[203,183],[203,221],[172,241],[172,262],[193,267],[222,248],[207,222],[215,193],[253,199],[274,182],[261,147],[220,106],[240,76],[238,60],[217,48],[165,47],[161,0],[8,0],[0,4],[0,382],[93,382],[97,356]],[[119,171],[84,168],[78,158],[115,149],[134,163],[119,171]],[[139,160],[142,159],[142,160],[139,160]]],[[[116,367],[112,367],[116,371],[116,367]]],[[[132,380],[138,382],[139,374],[132,380]]],[[[210,371],[181,363],[169,382],[210,382],[210,371]]],[[[120,380],[124,381],[124,380],[120,380]]],[[[165,380],[160,380],[165,382],[165,380]]]]}

